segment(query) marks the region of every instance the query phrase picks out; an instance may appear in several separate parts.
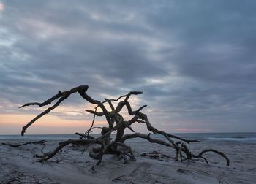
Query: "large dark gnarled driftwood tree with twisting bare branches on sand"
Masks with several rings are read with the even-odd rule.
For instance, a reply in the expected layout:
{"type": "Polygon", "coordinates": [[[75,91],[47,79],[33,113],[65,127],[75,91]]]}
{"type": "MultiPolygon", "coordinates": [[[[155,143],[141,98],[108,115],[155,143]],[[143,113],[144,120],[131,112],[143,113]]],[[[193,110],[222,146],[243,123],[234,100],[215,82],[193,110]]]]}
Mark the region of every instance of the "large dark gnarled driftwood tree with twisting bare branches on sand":
{"type": "MultiPolygon", "coordinates": [[[[40,158],[39,161],[46,161],[53,156],[56,155],[56,153],[59,152],[63,147],[69,145],[69,144],[75,144],[75,145],[84,145],[85,149],[88,149],[88,147],[91,147],[89,150],[89,156],[93,159],[97,159],[99,164],[102,161],[102,156],[104,154],[116,154],[120,156],[120,158],[123,158],[125,162],[129,161],[135,161],[135,156],[133,155],[131,147],[126,145],[124,142],[127,139],[133,139],[133,138],[141,138],[141,139],[147,139],[149,142],[157,143],[159,145],[164,145],[167,147],[171,147],[176,150],[176,161],[182,161],[185,160],[189,163],[190,160],[193,158],[203,158],[206,163],[208,163],[207,159],[203,157],[204,153],[207,152],[213,152],[217,153],[223,158],[226,159],[226,165],[229,165],[229,159],[227,156],[225,156],[224,153],[219,152],[218,150],[214,149],[208,149],[203,150],[198,154],[193,154],[189,151],[189,148],[186,144],[189,144],[190,142],[199,142],[197,140],[192,139],[184,139],[182,137],[177,137],[173,134],[168,134],[165,131],[160,131],[154,126],[151,126],[151,123],[148,120],[148,117],[143,112],[140,112],[143,110],[143,108],[146,107],[146,105],[143,105],[142,107],[138,108],[138,110],[132,110],[131,105],[129,104],[129,97],[132,95],[139,95],[143,92],[141,91],[130,91],[126,95],[118,97],[118,99],[105,99],[105,101],[98,101],[94,100],[89,96],[86,91],[88,90],[88,85],[80,85],[76,88],[72,88],[69,91],[61,92],[59,91],[55,96],[51,97],[50,99],[38,103],[38,102],[32,102],[28,104],[24,104],[21,107],[26,107],[30,105],[38,105],[39,107],[46,106],[48,104],[51,104],[54,100],[58,99],[58,101],[53,104],[53,106],[48,107],[47,110],[42,112],[41,114],[37,115],[34,119],[32,119],[29,123],[26,124],[26,126],[23,126],[23,129],[21,131],[21,135],[23,136],[25,134],[26,129],[29,128],[35,121],[37,121],[39,118],[41,118],[43,115],[48,114],[51,110],[55,109],[56,107],[61,104],[64,99],[67,99],[69,95],[72,93],[78,92],[80,96],[83,97],[86,101],[88,101],[91,104],[95,104],[96,107],[94,110],[86,110],[86,112],[89,112],[94,115],[94,118],[91,123],[91,127],[89,130],[85,132],[85,134],[76,133],[80,136],[80,139],[75,140],[67,140],[65,142],[60,142],[59,147],[56,147],[56,150],[53,150],[50,153],[44,153],[43,155],[36,155],[34,157],[40,158]],[[116,107],[114,107],[112,101],[117,101],[118,104],[116,107]],[[110,107],[110,111],[107,110],[106,105],[110,107]],[[129,120],[124,120],[123,116],[120,114],[121,110],[126,107],[128,110],[129,115],[132,116],[129,120]],[[97,111],[97,108],[100,108],[100,111],[97,111]],[[105,116],[105,119],[108,123],[108,126],[100,127],[102,129],[101,136],[94,138],[90,135],[91,130],[94,129],[94,120],[97,116],[105,116]],[[132,124],[134,123],[144,123],[146,125],[146,128],[148,131],[150,131],[153,134],[161,134],[165,137],[165,141],[162,139],[155,139],[151,137],[151,134],[140,134],[135,132],[132,129],[132,124]],[[132,131],[132,134],[124,134],[124,130],[129,129],[132,131]],[[114,140],[110,139],[110,135],[113,133],[113,131],[116,131],[116,137],[114,140]]],[[[20,107],[20,108],[21,108],[20,107]]],[[[97,127],[99,128],[99,127],[97,127]]],[[[165,158],[171,158],[170,156],[165,156],[165,158]]]]}

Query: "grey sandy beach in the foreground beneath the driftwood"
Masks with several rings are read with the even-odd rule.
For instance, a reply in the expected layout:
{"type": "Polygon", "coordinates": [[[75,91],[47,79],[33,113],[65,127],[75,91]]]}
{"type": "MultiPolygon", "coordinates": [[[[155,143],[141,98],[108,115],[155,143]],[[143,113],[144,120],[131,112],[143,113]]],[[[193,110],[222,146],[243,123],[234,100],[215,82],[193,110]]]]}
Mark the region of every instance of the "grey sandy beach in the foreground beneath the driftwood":
{"type": "Polygon", "coordinates": [[[230,166],[214,153],[206,155],[208,164],[141,156],[152,151],[174,156],[170,148],[146,141],[128,143],[135,150],[137,161],[124,164],[116,156],[104,156],[99,166],[94,166],[97,161],[88,152],[81,154],[83,147],[72,145],[43,164],[33,158],[34,154],[53,150],[57,140],[45,145],[1,145],[27,141],[0,140],[0,183],[255,183],[256,180],[254,143],[211,141],[189,145],[195,153],[209,147],[223,151],[230,158],[230,166]]]}

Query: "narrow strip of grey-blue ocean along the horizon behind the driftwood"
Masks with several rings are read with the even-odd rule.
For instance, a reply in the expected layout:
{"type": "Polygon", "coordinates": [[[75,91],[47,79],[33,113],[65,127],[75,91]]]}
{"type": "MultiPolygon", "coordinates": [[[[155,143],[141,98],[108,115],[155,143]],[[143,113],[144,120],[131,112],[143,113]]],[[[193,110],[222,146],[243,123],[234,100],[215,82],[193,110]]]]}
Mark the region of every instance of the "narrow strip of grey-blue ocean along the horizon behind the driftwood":
{"type": "MultiPolygon", "coordinates": [[[[185,139],[197,139],[200,142],[206,141],[224,141],[224,142],[246,142],[256,143],[256,132],[252,133],[180,133],[174,134],[178,137],[185,139]]],[[[92,134],[94,137],[98,137],[99,134],[92,134]]],[[[115,134],[112,135],[113,138],[115,134]]],[[[152,138],[165,139],[162,135],[151,134],[152,138]]],[[[0,135],[0,140],[67,140],[67,139],[78,139],[75,134],[26,134],[24,137],[20,135],[0,135]]],[[[140,138],[131,139],[132,141],[140,141],[140,138]]]]}

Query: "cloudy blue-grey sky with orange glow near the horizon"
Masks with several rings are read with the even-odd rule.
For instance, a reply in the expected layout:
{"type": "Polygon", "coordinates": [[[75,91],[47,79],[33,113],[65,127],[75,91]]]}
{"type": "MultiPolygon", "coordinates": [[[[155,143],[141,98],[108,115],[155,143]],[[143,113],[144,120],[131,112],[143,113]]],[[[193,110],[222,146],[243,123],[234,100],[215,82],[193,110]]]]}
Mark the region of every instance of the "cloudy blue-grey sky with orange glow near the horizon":
{"type": "MultiPolygon", "coordinates": [[[[255,7],[0,0],[0,134],[20,134],[45,110],[20,105],[78,85],[101,101],[143,91],[132,107],[147,104],[151,124],[170,133],[256,131],[255,7]]],[[[84,132],[92,119],[85,109],[94,106],[72,94],[26,134],[84,132]]],[[[135,130],[147,132],[139,123],[135,130]]]]}

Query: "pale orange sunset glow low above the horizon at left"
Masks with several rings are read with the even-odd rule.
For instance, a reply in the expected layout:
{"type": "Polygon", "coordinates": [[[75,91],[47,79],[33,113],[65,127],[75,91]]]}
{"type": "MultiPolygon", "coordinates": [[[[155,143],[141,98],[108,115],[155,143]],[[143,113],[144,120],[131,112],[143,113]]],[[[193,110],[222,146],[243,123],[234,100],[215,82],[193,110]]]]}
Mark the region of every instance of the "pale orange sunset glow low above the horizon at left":
{"type": "MultiPolygon", "coordinates": [[[[36,115],[23,114],[2,114],[0,115],[0,134],[20,134],[23,126],[26,125],[36,115]]],[[[103,120],[97,120],[96,126],[104,126],[106,123],[103,120]]],[[[91,120],[66,120],[54,115],[45,116],[34,123],[31,129],[28,129],[28,134],[69,134],[70,131],[79,132],[86,131],[91,126],[91,120]]],[[[94,133],[99,133],[100,130],[95,129],[94,133]]]]}

